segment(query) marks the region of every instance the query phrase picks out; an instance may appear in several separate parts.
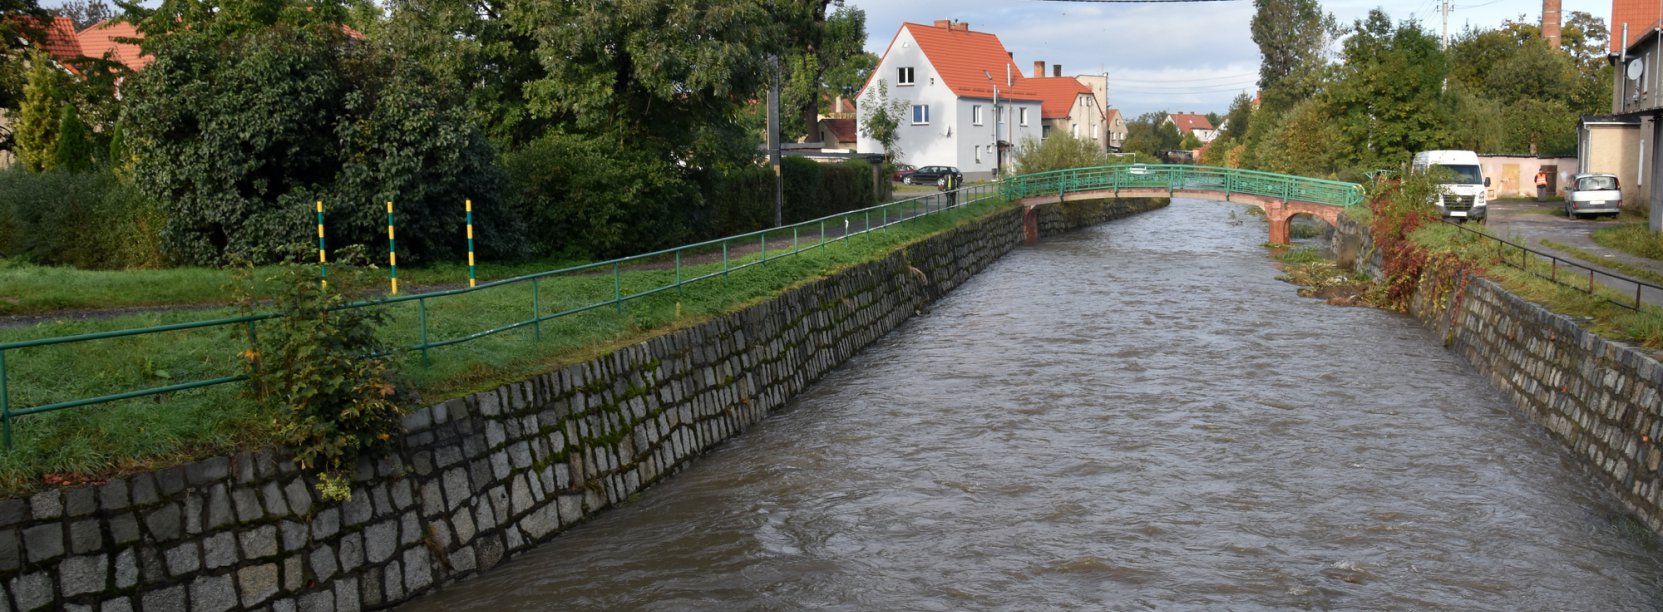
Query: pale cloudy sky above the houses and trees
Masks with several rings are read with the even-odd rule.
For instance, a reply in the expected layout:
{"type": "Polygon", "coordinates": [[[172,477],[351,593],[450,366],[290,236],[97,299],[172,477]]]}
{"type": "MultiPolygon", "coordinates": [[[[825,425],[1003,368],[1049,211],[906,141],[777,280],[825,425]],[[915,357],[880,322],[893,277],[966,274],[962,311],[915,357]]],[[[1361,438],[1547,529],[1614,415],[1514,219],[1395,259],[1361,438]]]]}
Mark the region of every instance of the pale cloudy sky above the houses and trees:
{"type": "MultiPolygon", "coordinates": [[[[901,22],[953,18],[991,32],[1016,65],[1061,63],[1066,75],[1108,73],[1109,106],[1128,118],[1147,111],[1216,111],[1224,115],[1237,93],[1254,91],[1259,47],[1247,30],[1252,0],[1221,2],[1046,2],[1046,0],[846,0],[866,12],[866,50],[883,55],[901,22]]],[[[1417,18],[1442,32],[1440,0],[1322,0],[1322,8],[1350,27],[1370,8],[1392,20],[1417,18]]],[[[1611,0],[1562,0],[1562,15],[1585,12],[1611,20],[1611,0]]],[[[1495,28],[1523,17],[1542,22],[1540,0],[1452,2],[1450,35],[1495,28]]]]}

